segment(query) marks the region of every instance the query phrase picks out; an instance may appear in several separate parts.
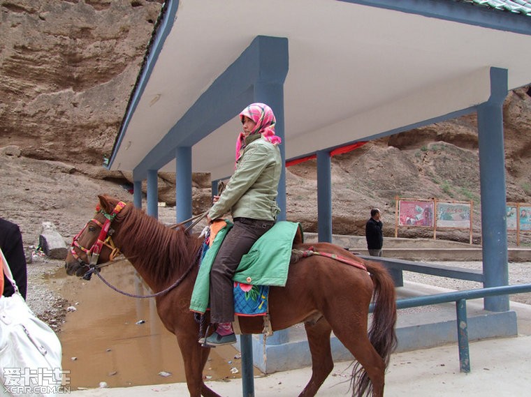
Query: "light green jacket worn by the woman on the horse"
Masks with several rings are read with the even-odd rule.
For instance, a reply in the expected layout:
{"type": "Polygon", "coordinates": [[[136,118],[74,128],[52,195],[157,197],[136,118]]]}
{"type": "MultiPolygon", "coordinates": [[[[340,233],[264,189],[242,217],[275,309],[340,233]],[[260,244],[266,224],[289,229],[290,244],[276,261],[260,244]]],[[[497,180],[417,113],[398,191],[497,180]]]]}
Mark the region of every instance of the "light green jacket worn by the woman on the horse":
{"type": "Polygon", "coordinates": [[[260,134],[245,138],[245,149],[236,170],[210,209],[210,219],[217,219],[231,211],[233,218],[275,220],[278,183],[282,172],[279,148],[260,134]]]}

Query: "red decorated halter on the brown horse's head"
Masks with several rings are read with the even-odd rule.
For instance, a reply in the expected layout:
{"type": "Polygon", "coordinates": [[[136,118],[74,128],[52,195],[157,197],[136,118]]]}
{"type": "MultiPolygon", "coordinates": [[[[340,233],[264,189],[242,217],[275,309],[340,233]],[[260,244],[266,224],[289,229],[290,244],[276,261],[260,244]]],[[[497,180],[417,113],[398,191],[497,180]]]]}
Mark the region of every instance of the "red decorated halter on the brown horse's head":
{"type": "Polygon", "coordinates": [[[103,248],[103,246],[110,248],[111,253],[109,256],[109,260],[111,262],[115,260],[115,258],[120,254],[119,248],[115,246],[115,243],[114,241],[112,241],[112,238],[111,238],[111,234],[113,230],[110,229],[110,223],[112,222],[112,220],[115,219],[119,211],[122,211],[122,209],[124,209],[125,206],[126,204],[124,202],[122,201],[118,202],[118,204],[116,204],[115,209],[112,210],[111,214],[108,214],[105,211],[103,211],[103,209],[101,209],[99,204],[96,206],[96,214],[102,214],[103,216],[105,216],[106,220],[105,220],[105,223],[103,223],[103,225],[96,218],[92,218],[91,220],[89,220],[89,222],[96,223],[96,225],[101,227],[101,231],[98,236],[98,239],[96,240],[96,242],[92,245],[90,249],[85,248],[84,246],[80,245],[78,242],[82,232],[84,232],[87,226],[89,225],[89,222],[87,222],[85,227],[83,227],[82,230],[78,234],[75,235],[72,241],[72,245],[71,245],[72,248],[70,252],[72,253],[72,256],[75,258],[75,260],[80,262],[82,266],[96,267],[96,264],[98,263],[99,255],[101,253],[101,249],[103,248]],[[89,260],[88,264],[85,263],[80,258],[78,253],[75,252],[74,248],[78,248],[87,254],[87,258],[89,260]]]}

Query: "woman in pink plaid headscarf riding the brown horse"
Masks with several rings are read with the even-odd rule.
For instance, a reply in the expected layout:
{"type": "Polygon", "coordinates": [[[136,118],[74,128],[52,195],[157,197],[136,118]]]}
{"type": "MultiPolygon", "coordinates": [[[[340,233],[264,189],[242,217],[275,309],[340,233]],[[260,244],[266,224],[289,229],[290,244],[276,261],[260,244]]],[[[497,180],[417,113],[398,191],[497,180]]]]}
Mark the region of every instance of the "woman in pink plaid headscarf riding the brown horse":
{"type": "Polygon", "coordinates": [[[282,159],[275,135],[275,114],[264,103],[252,103],[240,113],[243,132],[236,141],[235,172],[221,196],[214,196],[208,212],[212,223],[228,211],[233,227],[228,231],[210,271],[210,322],[216,331],[206,338],[211,346],[236,342],[234,321],[234,272],[242,256],[275,224],[280,209],[277,190],[282,159]]]}

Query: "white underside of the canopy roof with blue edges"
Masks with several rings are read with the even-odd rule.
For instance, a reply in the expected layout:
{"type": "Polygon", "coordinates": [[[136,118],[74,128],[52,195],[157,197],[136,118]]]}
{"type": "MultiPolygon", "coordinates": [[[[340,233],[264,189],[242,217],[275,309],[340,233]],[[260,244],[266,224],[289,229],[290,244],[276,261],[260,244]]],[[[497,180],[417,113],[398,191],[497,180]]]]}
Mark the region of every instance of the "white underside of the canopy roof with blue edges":
{"type": "MultiPolygon", "coordinates": [[[[287,159],[472,112],[490,96],[491,67],[508,70],[509,89],[531,82],[531,18],[470,2],[181,0],[165,7],[152,63],[143,67],[110,159],[111,170],[136,177],[152,169],[147,154],[256,36],[288,40],[287,159]]],[[[195,144],[194,172],[230,175],[240,128],[234,114],[195,144]]],[[[161,170],[175,172],[175,161],[161,170]]]]}

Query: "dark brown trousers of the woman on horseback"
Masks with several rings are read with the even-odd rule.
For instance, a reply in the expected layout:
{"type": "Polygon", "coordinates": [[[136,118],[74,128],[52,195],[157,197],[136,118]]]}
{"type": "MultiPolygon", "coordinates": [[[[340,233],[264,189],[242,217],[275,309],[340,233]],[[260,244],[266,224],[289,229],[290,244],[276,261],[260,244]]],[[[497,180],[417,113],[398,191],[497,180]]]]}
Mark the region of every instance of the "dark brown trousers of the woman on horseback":
{"type": "Polygon", "coordinates": [[[274,224],[273,220],[234,218],[210,271],[210,322],[234,321],[234,272],[242,256],[274,224]]]}

